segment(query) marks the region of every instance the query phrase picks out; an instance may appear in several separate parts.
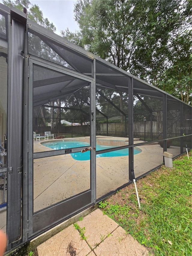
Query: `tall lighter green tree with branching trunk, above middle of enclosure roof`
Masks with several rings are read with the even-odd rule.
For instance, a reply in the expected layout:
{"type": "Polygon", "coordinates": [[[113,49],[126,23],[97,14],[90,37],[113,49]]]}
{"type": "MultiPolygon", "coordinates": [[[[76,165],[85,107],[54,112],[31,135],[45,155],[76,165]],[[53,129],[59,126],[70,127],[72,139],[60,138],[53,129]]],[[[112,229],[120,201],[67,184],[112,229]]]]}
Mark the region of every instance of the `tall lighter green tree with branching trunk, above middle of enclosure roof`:
{"type": "Polygon", "coordinates": [[[101,58],[128,70],[135,41],[142,29],[140,24],[145,19],[144,15],[137,15],[138,10],[134,7],[138,3],[140,1],[77,1],[74,13],[79,23],[81,44],[101,58]]]}

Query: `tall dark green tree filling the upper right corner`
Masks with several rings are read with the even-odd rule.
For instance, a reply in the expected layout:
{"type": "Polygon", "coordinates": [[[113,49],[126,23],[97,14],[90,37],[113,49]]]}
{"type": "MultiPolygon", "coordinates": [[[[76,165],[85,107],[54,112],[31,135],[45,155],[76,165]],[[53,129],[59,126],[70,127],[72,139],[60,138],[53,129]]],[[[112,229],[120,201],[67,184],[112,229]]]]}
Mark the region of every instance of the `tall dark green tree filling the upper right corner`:
{"type": "Polygon", "coordinates": [[[178,1],[148,2],[147,26],[137,41],[131,72],[190,103],[191,4],[189,1],[179,5],[178,1]]]}

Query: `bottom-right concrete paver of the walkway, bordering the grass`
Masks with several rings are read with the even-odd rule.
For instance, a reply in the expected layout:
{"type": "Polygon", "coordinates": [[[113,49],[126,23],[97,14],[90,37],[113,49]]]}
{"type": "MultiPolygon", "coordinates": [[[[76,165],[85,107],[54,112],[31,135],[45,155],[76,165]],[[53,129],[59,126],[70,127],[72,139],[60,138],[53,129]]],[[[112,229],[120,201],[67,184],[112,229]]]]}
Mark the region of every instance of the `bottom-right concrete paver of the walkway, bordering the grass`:
{"type": "Polygon", "coordinates": [[[140,245],[131,235],[126,234],[122,227],[118,227],[108,236],[94,252],[102,256],[147,256],[148,251],[140,245]]]}

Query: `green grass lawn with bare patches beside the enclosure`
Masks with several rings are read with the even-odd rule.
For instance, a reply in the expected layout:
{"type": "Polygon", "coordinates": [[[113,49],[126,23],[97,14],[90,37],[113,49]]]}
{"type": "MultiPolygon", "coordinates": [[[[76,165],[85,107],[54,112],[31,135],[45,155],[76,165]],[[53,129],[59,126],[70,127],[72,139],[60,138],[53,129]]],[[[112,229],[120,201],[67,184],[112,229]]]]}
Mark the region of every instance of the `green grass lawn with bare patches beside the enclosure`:
{"type": "Polygon", "coordinates": [[[192,151],[123,188],[100,207],[154,255],[192,255],[192,151]]]}

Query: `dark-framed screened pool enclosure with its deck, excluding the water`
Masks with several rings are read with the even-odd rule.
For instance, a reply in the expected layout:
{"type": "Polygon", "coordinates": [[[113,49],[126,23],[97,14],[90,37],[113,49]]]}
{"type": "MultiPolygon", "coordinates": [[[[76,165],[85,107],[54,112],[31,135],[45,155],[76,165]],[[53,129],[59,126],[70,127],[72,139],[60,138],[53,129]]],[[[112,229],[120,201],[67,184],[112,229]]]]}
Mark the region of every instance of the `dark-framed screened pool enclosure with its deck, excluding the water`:
{"type": "Polygon", "coordinates": [[[55,35],[13,6],[0,4],[0,20],[1,141],[7,135],[0,167],[7,175],[7,210],[0,212],[0,229],[11,251],[130,184],[131,170],[140,178],[156,169],[163,164],[163,151],[176,157],[186,144],[191,149],[192,113],[191,106],[55,35]],[[33,132],[40,134],[38,141],[33,132]],[[45,147],[45,132],[51,134],[46,142],[63,136],[86,140],[91,160],[71,157],[84,146],[45,147]],[[96,141],[129,148],[129,155],[96,157],[114,151],[106,147],[95,153],[96,141]],[[135,147],[142,152],[134,155],[135,147]]]}

